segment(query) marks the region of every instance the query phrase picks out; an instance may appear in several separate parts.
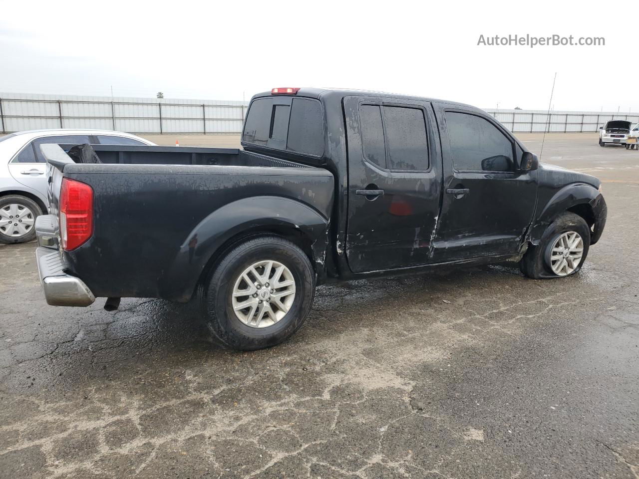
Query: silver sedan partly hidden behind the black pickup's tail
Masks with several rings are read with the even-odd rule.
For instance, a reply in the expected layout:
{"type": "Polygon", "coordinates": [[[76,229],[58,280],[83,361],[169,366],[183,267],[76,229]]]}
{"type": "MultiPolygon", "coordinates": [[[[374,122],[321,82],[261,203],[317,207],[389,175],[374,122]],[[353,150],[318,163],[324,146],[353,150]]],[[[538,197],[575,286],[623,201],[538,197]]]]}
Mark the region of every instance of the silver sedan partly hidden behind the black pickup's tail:
{"type": "Polygon", "coordinates": [[[0,137],[0,243],[36,237],[35,218],[47,212],[46,163],[40,151],[45,143],[153,145],[110,130],[32,130],[0,137]]]}

